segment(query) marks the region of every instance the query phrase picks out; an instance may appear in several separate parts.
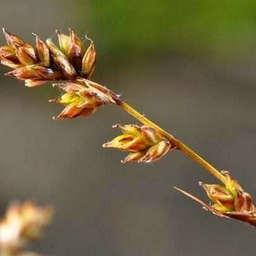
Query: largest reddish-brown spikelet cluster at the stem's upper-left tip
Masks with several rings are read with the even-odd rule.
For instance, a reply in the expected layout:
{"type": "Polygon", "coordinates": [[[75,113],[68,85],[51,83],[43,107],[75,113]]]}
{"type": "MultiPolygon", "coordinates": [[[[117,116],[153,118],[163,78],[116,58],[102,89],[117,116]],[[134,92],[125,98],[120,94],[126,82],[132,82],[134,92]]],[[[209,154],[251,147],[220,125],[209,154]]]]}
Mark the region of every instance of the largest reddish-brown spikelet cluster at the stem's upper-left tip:
{"type": "Polygon", "coordinates": [[[16,35],[4,30],[6,46],[0,47],[1,63],[14,69],[7,73],[25,81],[25,86],[39,86],[47,81],[73,80],[77,77],[89,78],[95,68],[95,48],[90,40],[87,50],[72,29],[69,35],[56,31],[58,48],[51,39],[43,42],[37,35],[35,47],[23,42],[16,35]]]}

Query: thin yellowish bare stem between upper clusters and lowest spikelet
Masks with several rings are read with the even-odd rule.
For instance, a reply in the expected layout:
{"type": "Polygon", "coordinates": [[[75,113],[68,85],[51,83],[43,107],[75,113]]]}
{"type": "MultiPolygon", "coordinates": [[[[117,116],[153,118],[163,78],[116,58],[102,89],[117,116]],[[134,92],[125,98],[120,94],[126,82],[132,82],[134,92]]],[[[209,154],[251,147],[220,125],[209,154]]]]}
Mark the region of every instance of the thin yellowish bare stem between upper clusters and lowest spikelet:
{"type": "Polygon", "coordinates": [[[126,104],[125,102],[120,100],[118,102],[118,105],[121,108],[123,108],[123,110],[130,113],[130,115],[132,115],[133,117],[135,117],[136,119],[141,121],[141,123],[143,123],[144,125],[150,125],[153,128],[155,128],[157,131],[159,131],[159,133],[161,133],[162,136],[164,136],[164,138],[166,138],[170,141],[170,144],[172,144],[172,146],[176,147],[177,149],[182,151],[185,155],[192,158],[193,161],[198,163],[200,166],[203,166],[206,170],[208,170],[208,172],[210,172],[210,174],[212,174],[218,180],[220,180],[224,184],[226,183],[226,179],[225,179],[224,175],[221,174],[221,172],[219,172],[216,168],[211,166],[211,164],[209,164],[207,161],[205,161],[205,159],[198,156],[198,154],[196,154],[192,149],[188,148],[188,146],[186,146],[184,143],[182,143],[182,141],[179,141],[173,135],[171,135],[170,133],[167,133],[167,131],[163,130],[161,127],[159,127],[158,125],[153,123],[151,120],[144,117],[144,115],[141,115],[141,113],[139,113],[137,110],[135,110],[134,108],[132,108],[130,105],[126,104]]]}

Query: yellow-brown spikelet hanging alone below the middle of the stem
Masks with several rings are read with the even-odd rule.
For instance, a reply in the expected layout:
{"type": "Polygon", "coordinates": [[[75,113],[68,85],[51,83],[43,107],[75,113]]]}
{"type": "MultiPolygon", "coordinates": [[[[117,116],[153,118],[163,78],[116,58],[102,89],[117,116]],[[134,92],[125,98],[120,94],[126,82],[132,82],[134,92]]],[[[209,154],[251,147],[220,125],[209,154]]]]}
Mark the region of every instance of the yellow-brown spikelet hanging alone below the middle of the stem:
{"type": "Polygon", "coordinates": [[[123,135],[105,143],[104,148],[117,148],[130,154],[121,162],[154,162],[164,156],[171,145],[154,128],[148,125],[114,125],[123,135]]]}

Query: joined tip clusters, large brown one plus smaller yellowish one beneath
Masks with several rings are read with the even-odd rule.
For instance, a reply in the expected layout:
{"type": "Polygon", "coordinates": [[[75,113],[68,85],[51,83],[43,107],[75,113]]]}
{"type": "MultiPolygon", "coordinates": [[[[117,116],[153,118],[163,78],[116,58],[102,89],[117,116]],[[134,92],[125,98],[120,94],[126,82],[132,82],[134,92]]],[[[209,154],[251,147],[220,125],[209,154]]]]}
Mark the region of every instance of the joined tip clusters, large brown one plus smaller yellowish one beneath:
{"type": "MultiPolygon", "coordinates": [[[[56,119],[88,117],[100,106],[117,104],[117,96],[99,84],[87,80],[95,68],[94,42],[87,50],[72,29],[69,35],[56,30],[59,48],[51,39],[43,42],[35,35],[35,48],[16,35],[3,29],[6,46],[0,47],[2,64],[14,70],[7,76],[25,81],[25,86],[35,87],[47,81],[64,81],[54,84],[64,94],[50,102],[65,106],[56,119]]],[[[87,38],[87,37],[86,37],[87,38]]],[[[87,38],[88,39],[88,38],[87,38]]]]}

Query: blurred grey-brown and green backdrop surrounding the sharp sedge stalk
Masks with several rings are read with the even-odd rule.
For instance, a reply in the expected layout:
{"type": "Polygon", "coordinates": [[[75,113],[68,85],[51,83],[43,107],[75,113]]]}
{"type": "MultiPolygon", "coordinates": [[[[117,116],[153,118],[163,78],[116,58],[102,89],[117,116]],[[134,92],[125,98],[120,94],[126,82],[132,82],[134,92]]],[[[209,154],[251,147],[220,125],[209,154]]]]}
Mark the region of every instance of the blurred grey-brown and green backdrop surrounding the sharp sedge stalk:
{"type": "MultiPolygon", "coordinates": [[[[255,1],[1,0],[0,24],[32,43],[72,27],[95,41],[94,81],[172,132],[256,198],[255,1]]],[[[54,37],[56,40],[56,37],[54,37]]],[[[4,38],[0,38],[1,45],[4,38]]],[[[33,249],[50,255],[251,255],[256,231],[206,213],[172,188],[207,201],[218,183],[174,152],[152,165],[120,163],[102,144],[115,123],[107,106],[90,118],[53,121],[51,84],[4,77],[0,86],[0,211],[11,200],[56,207],[33,249]]]]}

